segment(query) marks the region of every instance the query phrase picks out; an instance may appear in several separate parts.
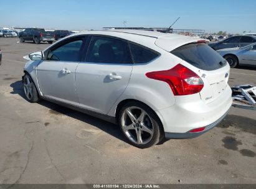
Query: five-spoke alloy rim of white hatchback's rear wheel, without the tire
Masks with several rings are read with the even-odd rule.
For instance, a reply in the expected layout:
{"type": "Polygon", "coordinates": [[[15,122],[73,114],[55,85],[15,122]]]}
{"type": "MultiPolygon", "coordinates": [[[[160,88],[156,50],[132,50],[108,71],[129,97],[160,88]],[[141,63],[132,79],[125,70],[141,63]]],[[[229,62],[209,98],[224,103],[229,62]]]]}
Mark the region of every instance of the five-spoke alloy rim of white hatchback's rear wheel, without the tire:
{"type": "Polygon", "coordinates": [[[154,134],[153,121],[141,108],[128,107],[121,115],[121,128],[125,136],[135,144],[148,144],[154,134]]]}

